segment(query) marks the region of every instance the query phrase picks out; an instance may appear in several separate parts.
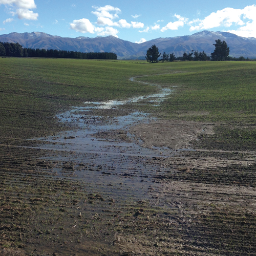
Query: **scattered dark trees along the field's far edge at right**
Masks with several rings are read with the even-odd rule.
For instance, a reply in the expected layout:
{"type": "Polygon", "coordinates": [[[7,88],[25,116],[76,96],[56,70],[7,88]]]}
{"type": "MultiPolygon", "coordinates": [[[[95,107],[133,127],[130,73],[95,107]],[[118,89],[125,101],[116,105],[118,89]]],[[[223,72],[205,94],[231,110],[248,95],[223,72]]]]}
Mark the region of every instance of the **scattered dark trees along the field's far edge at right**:
{"type": "MultiPolygon", "coordinates": [[[[243,56],[239,58],[230,57],[229,56],[229,47],[227,46],[227,43],[225,41],[221,41],[220,39],[215,40],[216,44],[214,52],[210,54],[210,56],[207,56],[207,54],[203,52],[198,52],[192,50],[189,53],[184,52],[183,56],[175,57],[174,53],[165,53],[163,52],[162,58],[160,61],[206,61],[206,60],[214,60],[214,61],[221,61],[221,60],[250,60],[249,58],[244,58],[243,56]],[[194,56],[193,56],[194,55],[194,56]]],[[[161,57],[161,54],[159,54],[158,47],[153,45],[151,48],[147,49],[146,52],[146,60],[148,62],[158,62],[158,58],[161,57]]],[[[255,59],[256,60],[256,59],[255,59]]]]}

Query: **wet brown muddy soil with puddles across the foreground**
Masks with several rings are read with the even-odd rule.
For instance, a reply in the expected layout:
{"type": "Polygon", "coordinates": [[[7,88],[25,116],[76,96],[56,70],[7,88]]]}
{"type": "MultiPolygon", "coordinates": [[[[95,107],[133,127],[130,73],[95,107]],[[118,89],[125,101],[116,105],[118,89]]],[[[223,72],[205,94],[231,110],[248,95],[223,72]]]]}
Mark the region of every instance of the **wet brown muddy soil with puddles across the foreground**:
{"type": "Polygon", "coordinates": [[[0,137],[3,255],[256,255],[255,152],[209,150],[219,124],[136,100],[86,102],[54,136],[0,137]]]}

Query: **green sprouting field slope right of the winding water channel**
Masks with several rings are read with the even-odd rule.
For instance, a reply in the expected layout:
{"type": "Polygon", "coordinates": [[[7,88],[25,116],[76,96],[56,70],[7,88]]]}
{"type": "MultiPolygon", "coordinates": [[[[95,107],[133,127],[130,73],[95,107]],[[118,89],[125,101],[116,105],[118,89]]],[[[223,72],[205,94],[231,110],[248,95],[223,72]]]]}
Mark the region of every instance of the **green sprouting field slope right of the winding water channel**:
{"type": "Polygon", "coordinates": [[[254,122],[255,64],[230,61],[174,62],[173,70],[178,73],[138,79],[175,86],[175,92],[160,108],[160,112],[165,112],[168,118],[254,122]]]}

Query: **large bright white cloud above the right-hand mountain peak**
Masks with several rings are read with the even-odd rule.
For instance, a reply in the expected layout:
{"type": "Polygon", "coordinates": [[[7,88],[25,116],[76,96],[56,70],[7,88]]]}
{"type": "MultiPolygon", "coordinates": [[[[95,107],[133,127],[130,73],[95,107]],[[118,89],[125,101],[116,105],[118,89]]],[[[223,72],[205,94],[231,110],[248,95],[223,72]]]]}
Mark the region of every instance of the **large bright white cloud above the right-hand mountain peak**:
{"type": "Polygon", "coordinates": [[[240,26],[237,30],[228,30],[240,36],[256,36],[256,6],[246,6],[244,9],[225,8],[212,12],[204,19],[189,22],[190,31],[211,29],[217,27],[240,26]]]}

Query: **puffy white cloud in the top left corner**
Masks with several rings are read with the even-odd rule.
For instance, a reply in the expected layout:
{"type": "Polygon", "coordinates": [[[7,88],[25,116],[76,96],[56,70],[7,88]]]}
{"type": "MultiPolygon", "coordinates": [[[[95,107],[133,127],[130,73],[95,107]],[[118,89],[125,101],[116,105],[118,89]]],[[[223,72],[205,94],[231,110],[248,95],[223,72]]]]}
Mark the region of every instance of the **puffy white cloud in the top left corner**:
{"type": "Polygon", "coordinates": [[[36,20],[38,13],[34,13],[30,9],[35,9],[34,0],[0,0],[0,5],[9,5],[12,15],[17,14],[19,19],[36,20]]]}

